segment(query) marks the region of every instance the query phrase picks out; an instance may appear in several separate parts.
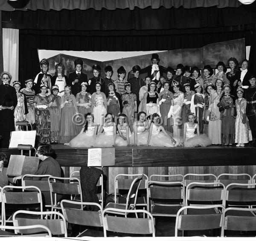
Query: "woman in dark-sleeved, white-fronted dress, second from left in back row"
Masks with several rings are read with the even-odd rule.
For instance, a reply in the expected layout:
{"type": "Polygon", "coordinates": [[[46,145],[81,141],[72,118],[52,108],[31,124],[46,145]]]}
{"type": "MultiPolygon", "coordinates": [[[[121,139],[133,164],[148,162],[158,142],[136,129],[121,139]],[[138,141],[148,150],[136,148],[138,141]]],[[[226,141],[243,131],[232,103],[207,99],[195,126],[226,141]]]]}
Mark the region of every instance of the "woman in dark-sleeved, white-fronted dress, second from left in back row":
{"type": "Polygon", "coordinates": [[[64,87],[68,83],[68,78],[65,75],[65,66],[59,62],[58,64],[55,65],[55,76],[52,77],[52,86],[53,85],[58,85],[58,90],[59,90],[59,96],[64,95],[64,87]]]}

